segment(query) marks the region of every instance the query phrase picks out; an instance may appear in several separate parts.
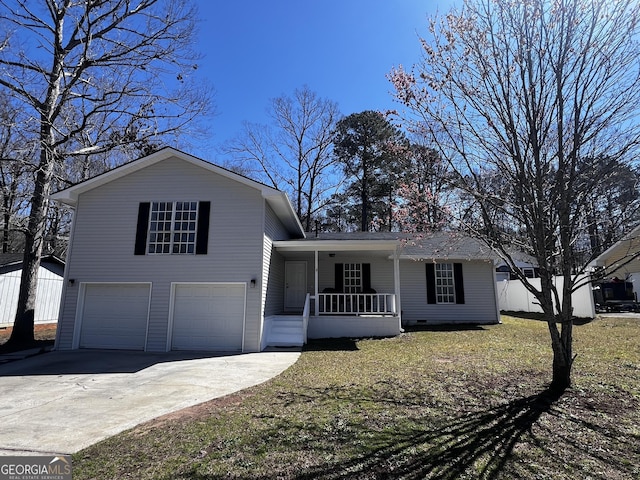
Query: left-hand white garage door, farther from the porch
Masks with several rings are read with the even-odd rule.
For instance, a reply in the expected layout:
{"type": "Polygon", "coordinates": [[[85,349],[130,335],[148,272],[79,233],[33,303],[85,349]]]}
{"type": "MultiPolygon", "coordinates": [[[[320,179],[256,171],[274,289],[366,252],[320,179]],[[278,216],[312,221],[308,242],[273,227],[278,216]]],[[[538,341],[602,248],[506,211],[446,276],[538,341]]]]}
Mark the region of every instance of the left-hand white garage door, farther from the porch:
{"type": "Polygon", "coordinates": [[[80,348],[144,350],[148,284],[85,285],[80,348]]]}

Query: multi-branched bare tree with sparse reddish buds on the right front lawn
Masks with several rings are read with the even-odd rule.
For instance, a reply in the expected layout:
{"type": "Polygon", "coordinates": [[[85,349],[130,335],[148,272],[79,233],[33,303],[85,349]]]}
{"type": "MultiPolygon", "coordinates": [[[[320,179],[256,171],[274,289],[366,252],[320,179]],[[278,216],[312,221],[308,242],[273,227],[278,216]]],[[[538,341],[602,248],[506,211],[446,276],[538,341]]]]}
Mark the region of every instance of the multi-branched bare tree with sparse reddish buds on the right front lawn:
{"type": "Polygon", "coordinates": [[[555,391],[571,383],[571,293],[590,260],[577,266],[574,244],[588,237],[585,206],[599,181],[585,184],[581,161],[637,155],[639,14],[632,0],[467,0],[432,21],[413,71],[390,74],[412,128],[473,199],[480,221],[467,226],[519,272],[514,237],[495,221],[508,217],[538,262],[541,288],[520,279],[548,322],[555,391]]]}

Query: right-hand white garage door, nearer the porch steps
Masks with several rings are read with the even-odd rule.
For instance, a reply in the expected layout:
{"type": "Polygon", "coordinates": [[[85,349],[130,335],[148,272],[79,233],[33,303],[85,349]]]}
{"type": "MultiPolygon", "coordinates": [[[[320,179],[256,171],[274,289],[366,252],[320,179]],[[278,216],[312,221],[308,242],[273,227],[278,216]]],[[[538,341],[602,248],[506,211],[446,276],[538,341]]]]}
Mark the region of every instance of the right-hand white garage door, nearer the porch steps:
{"type": "Polygon", "coordinates": [[[244,284],[176,285],[172,350],[241,351],[244,284]]]}

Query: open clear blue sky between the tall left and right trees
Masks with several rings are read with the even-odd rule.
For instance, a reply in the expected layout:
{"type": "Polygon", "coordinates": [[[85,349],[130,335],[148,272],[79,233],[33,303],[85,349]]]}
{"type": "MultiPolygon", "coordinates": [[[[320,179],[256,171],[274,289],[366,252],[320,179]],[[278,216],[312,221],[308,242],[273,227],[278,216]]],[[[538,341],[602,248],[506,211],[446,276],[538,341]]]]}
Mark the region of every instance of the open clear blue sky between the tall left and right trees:
{"type": "MultiPolygon", "coordinates": [[[[211,146],[269,100],[308,85],[344,115],[395,108],[385,75],[420,58],[427,19],[454,0],[197,0],[200,73],[216,90],[211,146]]],[[[203,149],[208,147],[203,146],[203,149]]],[[[211,151],[196,155],[216,160],[211,151]]]]}

